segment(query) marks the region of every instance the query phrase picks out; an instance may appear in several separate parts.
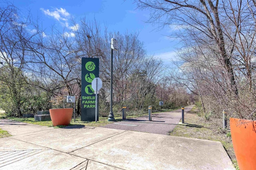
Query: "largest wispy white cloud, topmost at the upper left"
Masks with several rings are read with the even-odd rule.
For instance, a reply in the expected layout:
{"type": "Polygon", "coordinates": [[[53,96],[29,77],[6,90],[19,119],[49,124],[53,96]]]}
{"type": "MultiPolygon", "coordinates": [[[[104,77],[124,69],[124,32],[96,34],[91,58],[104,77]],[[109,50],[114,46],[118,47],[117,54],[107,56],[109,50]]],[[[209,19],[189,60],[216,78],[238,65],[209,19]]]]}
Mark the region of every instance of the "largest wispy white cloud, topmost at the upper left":
{"type": "Polygon", "coordinates": [[[44,12],[45,15],[47,16],[51,16],[53,18],[55,18],[56,20],[60,21],[67,21],[67,17],[70,16],[70,14],[66,11],[66,9],[63,8],[56,8],[54,11],[50,11],[50,10],[44,10],[44,8],[40,8],[40,10],[42,10],[42,12],[44,12]]]}

